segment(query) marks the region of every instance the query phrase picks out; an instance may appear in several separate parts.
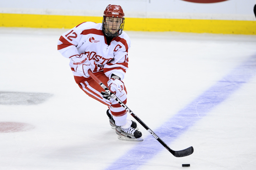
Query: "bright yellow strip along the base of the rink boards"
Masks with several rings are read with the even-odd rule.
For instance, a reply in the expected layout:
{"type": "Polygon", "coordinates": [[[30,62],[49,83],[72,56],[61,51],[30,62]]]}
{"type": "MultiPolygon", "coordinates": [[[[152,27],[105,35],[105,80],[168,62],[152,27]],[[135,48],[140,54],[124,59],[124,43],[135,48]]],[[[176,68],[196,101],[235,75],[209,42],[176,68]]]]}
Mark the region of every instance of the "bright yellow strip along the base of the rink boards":
{"type": "MultiPolygon", "coordinates": [[[[101,23],[102,17],[0,13],[4,27],[70,29],[85,21],[101,23]]],[[[256,21],[126,18],[125,30],[256,35],[256,21]]]]}

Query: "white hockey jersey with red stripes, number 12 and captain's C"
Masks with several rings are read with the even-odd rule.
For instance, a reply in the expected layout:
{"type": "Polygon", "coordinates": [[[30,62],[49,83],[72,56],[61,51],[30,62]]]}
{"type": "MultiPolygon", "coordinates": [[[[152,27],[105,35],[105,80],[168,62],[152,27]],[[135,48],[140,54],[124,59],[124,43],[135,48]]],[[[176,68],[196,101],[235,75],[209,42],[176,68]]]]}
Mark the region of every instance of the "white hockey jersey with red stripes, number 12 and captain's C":
{"type": "MultiPolygon", "coordinates": [[[[102,32],[102,24],[84,22],[61,35],[58,41],[58,51],[62,56],[70,58],[74,55],[85,53],[89,60],[94,60],[97,67],[93,72],[104,71],[110,78],[112,74],[123,80],[128,69],[128,50],[130,38],[123,31],[118,37],[113,38],[110,45],[102,32]]],[[[83,82],[86,78],[77,74],[70,64],[76,83],[83,82]]]]}

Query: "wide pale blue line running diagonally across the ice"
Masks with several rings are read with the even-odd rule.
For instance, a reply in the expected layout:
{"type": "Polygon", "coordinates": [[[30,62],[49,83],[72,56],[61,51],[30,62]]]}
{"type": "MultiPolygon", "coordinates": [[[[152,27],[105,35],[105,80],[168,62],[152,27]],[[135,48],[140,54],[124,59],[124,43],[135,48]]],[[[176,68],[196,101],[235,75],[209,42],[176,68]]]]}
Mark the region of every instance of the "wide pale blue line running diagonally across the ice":
{"type": "MultiPolygon", "coordinates": [[[[196,121],[226,100],[230,94],[234,93],[255,75],[256,56],[250,57],[240,66],[233,69],[229,75],[216,82],[211,88],[167,120],[161,127],[152,130],[165,143],[170,145],[179,135],[186,132],[196,121]]],[[[138,145],[124,153],[123,156],[119,157],[105,170],[136,170],[163,149],[165,148],[154,137],[149,135],[144,138],[143,142],[138,143],[138,145]]]]}

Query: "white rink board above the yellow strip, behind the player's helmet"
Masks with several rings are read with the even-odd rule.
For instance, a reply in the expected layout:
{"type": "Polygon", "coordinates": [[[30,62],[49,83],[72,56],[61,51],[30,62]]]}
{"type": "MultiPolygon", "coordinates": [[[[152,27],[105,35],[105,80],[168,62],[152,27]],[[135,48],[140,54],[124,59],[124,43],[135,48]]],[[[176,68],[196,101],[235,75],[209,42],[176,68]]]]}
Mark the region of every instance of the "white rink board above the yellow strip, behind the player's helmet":
{"type": "Polygon", "coordinates": [[[0,13],[102,16],[108,4],[121,5],[128,18],[256,20],[256,0],[7,0],[1,2],[0,13]]]}

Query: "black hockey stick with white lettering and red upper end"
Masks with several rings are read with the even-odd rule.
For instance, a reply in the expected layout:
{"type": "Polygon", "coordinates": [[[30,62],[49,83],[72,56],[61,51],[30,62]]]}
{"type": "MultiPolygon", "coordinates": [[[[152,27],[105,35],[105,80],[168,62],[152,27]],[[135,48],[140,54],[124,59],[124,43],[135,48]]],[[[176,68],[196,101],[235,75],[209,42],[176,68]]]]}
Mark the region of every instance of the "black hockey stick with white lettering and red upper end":
{"type": "Polygon", "coordinates": [[[175,157],[186,157],[191,155],[194,152],[194,148],[192,146],[190,146],[187,149],[181,150],[181,151],[174,151],[171,148],[169,148],[168,145],[166,145],[166,143],[164,143],[162,141],[162,139],[160,139],[155,132],[153,132],[140,118],[138,118],[138,116],[136,116],[120,99],[118,99],[118,97],[116,97],[115,94],[111,93],[110,90],[101,82],[100,79],[98,79],[98,77],[96,77],[91,70],[88,71],[88,74],[94,79],[95,82],[97,82],[99,85],[101,85],[101,87],[106,90],[106,92],[111,95],[111,97],[113,97],[115,99],[115,101],[117,101],[122,107],[125,108],[125,110],[130,113],[135,120],[137,120],[160,144],[162,144],[169,152],[171,152],[171,154],[173,154],[175,157]]]}

